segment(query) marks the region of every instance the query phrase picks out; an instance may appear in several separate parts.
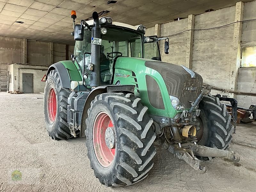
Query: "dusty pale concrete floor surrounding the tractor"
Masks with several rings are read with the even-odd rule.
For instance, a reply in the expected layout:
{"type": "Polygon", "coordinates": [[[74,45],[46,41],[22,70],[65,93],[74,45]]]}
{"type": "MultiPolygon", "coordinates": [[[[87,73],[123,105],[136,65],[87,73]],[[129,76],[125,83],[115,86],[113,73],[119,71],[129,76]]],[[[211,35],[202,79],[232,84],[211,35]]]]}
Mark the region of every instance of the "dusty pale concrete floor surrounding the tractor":
{"type": "Polygon", "coordinates": [[[85,138],[54,141],[44,125],[42,94],[0,93],[0,192],[2,191],[255,191],[256,124],[238,124],[232,150],[239,163],[204,162],[199,174],[169,152],[158,150],[148,177],[133,186],[107,188],[93,175],[85,138]],[[12,181],[20,170],[22,180],[12,181]]]}

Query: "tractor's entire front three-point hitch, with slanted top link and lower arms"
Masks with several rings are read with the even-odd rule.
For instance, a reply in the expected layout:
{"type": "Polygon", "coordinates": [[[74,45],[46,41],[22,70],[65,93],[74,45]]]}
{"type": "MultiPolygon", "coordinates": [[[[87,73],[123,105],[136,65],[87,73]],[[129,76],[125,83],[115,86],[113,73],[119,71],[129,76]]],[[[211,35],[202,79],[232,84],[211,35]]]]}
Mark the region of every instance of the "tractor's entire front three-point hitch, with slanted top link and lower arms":
{"type": "Polygon", "coordinates": [[[196,128],[195,122],[196,117],[199,116],[200,110],[198,108],[199,102],[203,99],[204,96],[209,95],[212,87],[210,85],[204,86],[201,94],[198,98],[191,104],[189,110],[184,110],[179,118],[179,121],[174,121],[170,127],[174,143],[164,142],[163,147],[168,150],[179,159],[183,159],[187,162],[193,169],[197,170],[200,173],[205,173],[206,168],[200,165],[201,161],[197,157],[222,157],[228,159],[232,162],[238,162],[240,157],[236,157],[234,151],[227,151],[218,148],[205,147],[197,145],[196,139],[196,128]],[[195,110],[196,109],[196,110],[195,110]],[[179,122],[179,123],[176,123],[179,122]],[[178,129],[178,127],[180,127],[178,129]],[[181,135],[180,135],[181,133],[181,135]],[[187,139],[186,139],[187,138],[187,139]],[[182,142],[184,140],[190,142],[182,142]],[[168,143],[168,144],[167,144],[168,143]]]}

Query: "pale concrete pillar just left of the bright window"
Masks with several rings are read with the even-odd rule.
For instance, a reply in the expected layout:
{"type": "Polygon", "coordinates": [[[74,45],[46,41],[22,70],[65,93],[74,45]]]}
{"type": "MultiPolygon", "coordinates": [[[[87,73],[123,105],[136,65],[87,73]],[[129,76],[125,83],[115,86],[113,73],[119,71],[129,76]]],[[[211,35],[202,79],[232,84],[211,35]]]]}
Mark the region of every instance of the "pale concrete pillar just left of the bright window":
{"type": "MultiPolygon", "coordinates": [[[[242,1],[236,3],[236,15],[235,21],[243,20],[244,14],[244,3],[242,1]]],[[[233,36],[233,49],[234,55],[232,57],[232,62],[230,66],[230,79],[229,79],[229,89],[236,91],[237,90],[237,77],[238,69],[240,67],[241,61],[241,36],[242,36],[242,22],[235,23],[234,27],[234,36],[233,36]]],[[[230,94],[231,97],[234,94],[230,94]]]]}

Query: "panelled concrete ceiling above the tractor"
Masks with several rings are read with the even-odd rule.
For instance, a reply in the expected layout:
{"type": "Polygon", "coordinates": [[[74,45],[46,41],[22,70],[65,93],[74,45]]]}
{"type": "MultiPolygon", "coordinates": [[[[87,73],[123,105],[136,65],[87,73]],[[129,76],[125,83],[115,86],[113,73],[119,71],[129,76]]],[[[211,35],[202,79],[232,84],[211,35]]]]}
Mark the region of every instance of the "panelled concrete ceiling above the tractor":
{"type": "MultiPolygon", "coordinates": [[[[114,21],[152,27],[189,14],[235,5],[240,0],[0,0],[0,36],[74,44],[71,10],[77,19],[87,19],[93,11],[108,10],[114,21]],[[15,21],[23,21],[20,24],[15,21]]],[[[249,2],[252,0],[245,0],[249,2]]]]}

